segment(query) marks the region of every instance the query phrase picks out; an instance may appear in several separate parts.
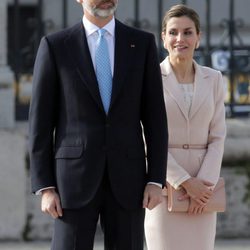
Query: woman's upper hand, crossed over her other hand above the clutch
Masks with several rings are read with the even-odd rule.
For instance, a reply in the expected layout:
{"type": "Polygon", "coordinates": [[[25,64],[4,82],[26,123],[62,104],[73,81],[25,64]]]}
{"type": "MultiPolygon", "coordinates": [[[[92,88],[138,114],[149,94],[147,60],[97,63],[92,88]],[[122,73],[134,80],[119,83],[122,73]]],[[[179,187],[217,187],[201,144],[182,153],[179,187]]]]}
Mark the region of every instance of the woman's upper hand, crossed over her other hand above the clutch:
{"type": "Polygon", "coordinates": [[[181,185],[187,193],[179,199],[185,200],[190,197],[191,199],[196,201],[200,206],[205,206],[213,194],[213,191],[211,189],[211,187],[214,186],[213,183],[203,181],[195,177],[189,178],[181,185]]]}

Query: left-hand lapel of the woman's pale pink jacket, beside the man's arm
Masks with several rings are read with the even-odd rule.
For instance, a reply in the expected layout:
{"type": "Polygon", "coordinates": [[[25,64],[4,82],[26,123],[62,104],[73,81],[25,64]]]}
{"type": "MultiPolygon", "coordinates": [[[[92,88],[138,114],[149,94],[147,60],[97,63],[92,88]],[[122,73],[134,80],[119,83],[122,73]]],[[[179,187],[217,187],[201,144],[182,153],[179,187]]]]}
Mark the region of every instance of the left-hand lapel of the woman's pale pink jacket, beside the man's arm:
{"type": "Polygon", "coordinates": [[[184,102],[183,93],[180,86],[178,85],[178,81],[169,63],[168,57],[161,63],[161,72],[163,78],[163,88],[173,98],[173,100],[179,106],[184,117],[188,120],[188,110],[184,102]]]}

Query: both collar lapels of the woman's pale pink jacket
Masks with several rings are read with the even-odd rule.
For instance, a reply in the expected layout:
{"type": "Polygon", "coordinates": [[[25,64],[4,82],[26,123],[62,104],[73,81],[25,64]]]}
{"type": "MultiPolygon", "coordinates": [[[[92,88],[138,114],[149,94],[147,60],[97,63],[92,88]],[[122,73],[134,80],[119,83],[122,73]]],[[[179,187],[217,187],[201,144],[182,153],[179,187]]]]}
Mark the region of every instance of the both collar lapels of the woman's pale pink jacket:
{"type": "Polygon", "coordinates": [[[169,57],[166,57],[161,63],[161,72],[163,78],[163,88],[169,93],[169,95],[175,100],[183,115],[187,120],[190,120],[194,114],[199,110],[201,105],[206,100],[208,93],[212,90],[211,78],[205,68],[195,61],[195,80],[194,80],[194,95],[193,101],[190,109],[190,114],[188,114],[185,108],[186,104],[183,99],[183,93],[178,86],[178,81],[175,77],[174,71],[169,62],[169,57]]]}

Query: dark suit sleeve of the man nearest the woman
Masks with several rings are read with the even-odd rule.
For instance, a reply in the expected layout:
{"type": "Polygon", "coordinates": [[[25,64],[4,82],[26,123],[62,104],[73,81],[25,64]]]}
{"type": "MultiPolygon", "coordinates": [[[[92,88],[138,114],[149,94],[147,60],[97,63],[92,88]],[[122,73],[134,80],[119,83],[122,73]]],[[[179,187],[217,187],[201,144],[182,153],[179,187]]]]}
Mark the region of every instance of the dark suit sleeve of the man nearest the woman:
{"type": "Polygon", "coordinates": [[[158,53],[149,35],[144,68],[141,117],[147,147],[148,182],[165,185],[168,152],[167,115],[158,53]]]}

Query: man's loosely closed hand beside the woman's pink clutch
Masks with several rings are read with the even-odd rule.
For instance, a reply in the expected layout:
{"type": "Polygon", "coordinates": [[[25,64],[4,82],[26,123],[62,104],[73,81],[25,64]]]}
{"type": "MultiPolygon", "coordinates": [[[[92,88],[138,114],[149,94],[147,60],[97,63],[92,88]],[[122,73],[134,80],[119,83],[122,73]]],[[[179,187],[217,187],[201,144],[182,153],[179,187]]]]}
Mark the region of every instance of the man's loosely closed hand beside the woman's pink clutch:
{"type": "Polygon", "coordinates": [[[147,184],[144,190],[143,208],[153,209],[162,202],[162,189],[154,184],[147,184]]]}

